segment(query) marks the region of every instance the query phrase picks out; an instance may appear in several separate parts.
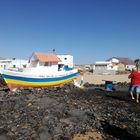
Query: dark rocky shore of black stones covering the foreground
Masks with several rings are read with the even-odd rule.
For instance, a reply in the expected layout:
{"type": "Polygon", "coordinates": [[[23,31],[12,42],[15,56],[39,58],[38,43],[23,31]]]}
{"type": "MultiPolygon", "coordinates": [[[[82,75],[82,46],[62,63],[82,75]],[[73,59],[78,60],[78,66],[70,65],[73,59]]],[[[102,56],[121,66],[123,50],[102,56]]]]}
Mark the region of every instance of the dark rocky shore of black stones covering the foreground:
{"type": "Polygon", "coordinates": [[[127,90],[70,84],[0,91],[0,140],[135,139],[140,139],[140,104],[127,90]]]}

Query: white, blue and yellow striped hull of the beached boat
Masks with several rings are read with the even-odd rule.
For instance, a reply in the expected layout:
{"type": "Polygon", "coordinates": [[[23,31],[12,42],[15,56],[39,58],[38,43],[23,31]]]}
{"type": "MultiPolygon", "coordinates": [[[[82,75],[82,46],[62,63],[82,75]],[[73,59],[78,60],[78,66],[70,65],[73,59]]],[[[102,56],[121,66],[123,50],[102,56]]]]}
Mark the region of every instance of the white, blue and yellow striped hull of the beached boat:
{"type": "Polygon", "coordinates": [[[49,87],[49,86],[57,86],[61,84],[68,83],[76,78],[77,71],[66,72],[65,74],[57,76],[30,76],[30,75],[22,75],[22,72],[8,72],[5,71],[2,73],[2,77],[4,78],[8,88],[11,91],[14,91],[17,88],[27,88],[27,87],[49,87]]]}

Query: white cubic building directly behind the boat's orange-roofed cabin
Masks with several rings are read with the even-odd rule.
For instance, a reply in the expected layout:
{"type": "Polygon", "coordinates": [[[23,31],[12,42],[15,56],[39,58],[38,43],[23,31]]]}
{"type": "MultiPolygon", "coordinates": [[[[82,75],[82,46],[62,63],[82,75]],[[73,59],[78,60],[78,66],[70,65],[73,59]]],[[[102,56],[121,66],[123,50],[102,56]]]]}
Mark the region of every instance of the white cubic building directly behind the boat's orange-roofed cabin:
{"type": "Polygon", "coordinates": [[[72,55],[57,55],[57,57],[61,60],[58,64],[60,67],[64,67],[66,69],[72,69],[73,64],[73,56],[72,55]]]}

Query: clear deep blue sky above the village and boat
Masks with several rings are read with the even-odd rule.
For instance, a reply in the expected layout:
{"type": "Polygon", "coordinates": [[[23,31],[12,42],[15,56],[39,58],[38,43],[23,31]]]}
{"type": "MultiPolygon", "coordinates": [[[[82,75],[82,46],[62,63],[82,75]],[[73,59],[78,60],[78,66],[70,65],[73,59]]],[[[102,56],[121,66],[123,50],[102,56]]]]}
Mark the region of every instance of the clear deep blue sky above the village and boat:
{"type": "Polygon", "coordinates": [[[53,48],[75,64],[140,58],[140,0],[0,1],[0,57],[53,48]]]}

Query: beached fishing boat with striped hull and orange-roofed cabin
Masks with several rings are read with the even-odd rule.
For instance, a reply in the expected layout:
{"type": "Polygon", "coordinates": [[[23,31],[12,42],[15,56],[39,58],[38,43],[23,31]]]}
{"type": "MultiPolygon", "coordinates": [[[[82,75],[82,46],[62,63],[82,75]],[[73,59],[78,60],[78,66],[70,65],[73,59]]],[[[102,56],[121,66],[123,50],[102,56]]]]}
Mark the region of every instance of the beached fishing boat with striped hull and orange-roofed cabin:
{"type": "Polygon", "coordinates": [[[71,82],[78,74],[77,69],[65,69],[59,65],[61,60],[54,53],[33,53],[29,59],[29,66],[23,69],[2,70],[8,88],[49,87],[71,82]]]}

